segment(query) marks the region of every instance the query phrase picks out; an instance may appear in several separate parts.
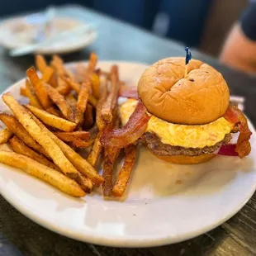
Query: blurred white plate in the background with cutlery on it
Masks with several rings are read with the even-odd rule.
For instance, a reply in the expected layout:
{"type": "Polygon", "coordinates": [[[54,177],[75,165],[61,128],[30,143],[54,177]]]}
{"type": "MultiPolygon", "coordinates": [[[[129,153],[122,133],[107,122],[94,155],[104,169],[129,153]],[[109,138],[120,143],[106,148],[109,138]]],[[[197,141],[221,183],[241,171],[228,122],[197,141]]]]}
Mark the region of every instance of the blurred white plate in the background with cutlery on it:
{"type": "MultiPolygon", "coordinates": [[[[82,21],[70,17],[55,17],[54,31],[66,31],[74,27],[83,26],[82,21]]],[[[35,34],[35,28],[26,24],[26,17],[14,17],[2,21],[0,24],[0,45],[9,50],[31,44],[31,37],[35,34]],[[27,32],[23,32],[26,28],[27,32]]],[[[70,36],[67,40],[57,40],[50,45],[45,45],[36,50],[36,54],[53,55],[65,54],[91,45],[97,38],[97,31],[91,29],[81,36],[70,36]]]]}

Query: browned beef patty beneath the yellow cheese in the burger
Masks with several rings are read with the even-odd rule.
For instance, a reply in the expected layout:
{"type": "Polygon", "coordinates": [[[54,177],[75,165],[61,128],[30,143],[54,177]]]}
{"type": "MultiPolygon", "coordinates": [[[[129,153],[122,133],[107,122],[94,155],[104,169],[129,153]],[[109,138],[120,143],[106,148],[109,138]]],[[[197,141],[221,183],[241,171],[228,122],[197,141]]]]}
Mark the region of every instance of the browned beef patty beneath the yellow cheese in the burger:
{"type": "Polygon", "coordinates": [[[180,146],[172,146],[163,144],[159,138],[158,135],[150,132],[146,132],[143,135],[142,143],[145,143],[149,150],[157,155],[199,155],[199,154],[211,154],[216,151],[216,149],[219,149],[221,145],[227,144],[232,139],[231,134],[225,135],[225,138],[221,140],[220,142],[216,143],[216,145],[213,145],[211,147],[204,147],[202,149],[196,148],[183,148],[180,146]]]}

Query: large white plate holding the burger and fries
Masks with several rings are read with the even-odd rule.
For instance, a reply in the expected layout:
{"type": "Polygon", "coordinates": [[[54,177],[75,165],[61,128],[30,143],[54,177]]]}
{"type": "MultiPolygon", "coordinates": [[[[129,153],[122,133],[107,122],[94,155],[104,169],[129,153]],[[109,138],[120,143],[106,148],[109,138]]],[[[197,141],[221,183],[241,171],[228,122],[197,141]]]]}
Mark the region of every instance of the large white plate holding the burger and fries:
{"type": "MultiPolygon", "coordinates": [[[[136,84],[145,65],[115,62],[121,79],[136,84]]],[[[99,67],[110,68],[111,62],[99,67]]],[[[19,88],[8,91],[21,100],[19,88]]],[[[1,110],[5,110],[2,100],[1,110]]],[[[0,165],[0,192],[25,216],[61,235],[92,244],[144,247],[172,244],[214,229],[253,195],[256,139],[246,159],[217,156],[206,164],[167,164],[140,149],[126,201],[94,193],[74,199],[16,168],[0,165]],[[182,183],[182,184],[180,184],[182,183]]]]}

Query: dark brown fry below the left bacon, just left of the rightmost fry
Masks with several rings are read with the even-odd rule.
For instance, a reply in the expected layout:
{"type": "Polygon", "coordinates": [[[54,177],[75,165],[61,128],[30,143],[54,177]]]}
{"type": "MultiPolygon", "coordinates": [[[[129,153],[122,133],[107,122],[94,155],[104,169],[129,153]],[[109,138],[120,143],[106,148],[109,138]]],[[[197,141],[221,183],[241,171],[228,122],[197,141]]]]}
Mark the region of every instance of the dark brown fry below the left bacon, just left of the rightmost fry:
{"type": "Polygon", "coordinates": [[[112,180],[113,180],[114,164],[116,162],[116,159],[119,153],[120,153],[120,149],[117,149],[117,148],[105,149],[103,173],[102,173],[102,176],[104,178],[104,183],[102,184],[104,197],[111,196],[111,189],[113,186],[112,180]]]}

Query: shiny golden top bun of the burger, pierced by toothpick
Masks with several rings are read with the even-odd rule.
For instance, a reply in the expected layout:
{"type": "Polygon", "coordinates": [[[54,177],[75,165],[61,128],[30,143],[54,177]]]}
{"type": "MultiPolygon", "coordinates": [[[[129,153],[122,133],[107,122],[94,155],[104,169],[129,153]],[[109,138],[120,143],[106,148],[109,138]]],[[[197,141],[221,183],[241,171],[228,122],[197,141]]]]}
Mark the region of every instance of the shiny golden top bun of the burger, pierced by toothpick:
{"type": "Polygon", "coordinates": [[[225,114],[230,91],[222,75],[192,59],[184,78],[185,59],[162,59],[142,74],[138,93],[154,116],[178,124],[202,125],[225,114]]]}

